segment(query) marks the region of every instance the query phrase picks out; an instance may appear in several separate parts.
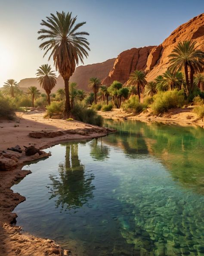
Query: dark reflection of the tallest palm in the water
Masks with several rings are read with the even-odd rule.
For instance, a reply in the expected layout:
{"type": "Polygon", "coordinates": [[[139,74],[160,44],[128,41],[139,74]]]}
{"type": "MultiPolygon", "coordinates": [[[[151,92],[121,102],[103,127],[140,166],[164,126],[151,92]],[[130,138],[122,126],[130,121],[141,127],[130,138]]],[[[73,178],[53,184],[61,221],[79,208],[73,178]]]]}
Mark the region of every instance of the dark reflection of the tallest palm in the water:
{"type": "Polygon", "coordinates": [[[56,207],[62,209],[76,209],[93,198],[91,182],[94,175],[84,173],[84,165],[78,158],[78,144],[67,144],[65,165],[59,165],[59,179],[55,175],[49,177],[52,181],[50,199],[57,197],[56,207]]]}

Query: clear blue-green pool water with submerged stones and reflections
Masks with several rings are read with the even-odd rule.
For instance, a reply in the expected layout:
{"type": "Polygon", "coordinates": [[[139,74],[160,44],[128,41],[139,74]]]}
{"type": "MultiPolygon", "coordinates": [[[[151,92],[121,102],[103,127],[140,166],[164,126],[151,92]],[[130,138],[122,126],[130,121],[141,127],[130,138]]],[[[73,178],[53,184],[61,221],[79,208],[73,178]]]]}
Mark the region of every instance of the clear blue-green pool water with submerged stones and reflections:
{"type": "Polygon", "coordinates": [[[105,123],[118,133],[24,167],[17,224],[78,256],[204,255],[204,130],[105,123]]]}

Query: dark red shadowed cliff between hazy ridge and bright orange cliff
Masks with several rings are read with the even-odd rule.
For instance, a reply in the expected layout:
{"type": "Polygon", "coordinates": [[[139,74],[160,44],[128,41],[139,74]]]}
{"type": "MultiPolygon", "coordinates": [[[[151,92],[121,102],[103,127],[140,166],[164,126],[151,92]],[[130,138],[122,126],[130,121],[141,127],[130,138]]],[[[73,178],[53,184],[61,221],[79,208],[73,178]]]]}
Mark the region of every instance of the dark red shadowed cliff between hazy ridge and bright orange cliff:
{"type": "Polygon", "coordinates": [[[155,47],[132,48],[120,53],[114,62],[113,69],[102,83],[110,85],[117,80],[124,84],[135,69],[145,70],[148,56],[153,48],[155,47]]]}

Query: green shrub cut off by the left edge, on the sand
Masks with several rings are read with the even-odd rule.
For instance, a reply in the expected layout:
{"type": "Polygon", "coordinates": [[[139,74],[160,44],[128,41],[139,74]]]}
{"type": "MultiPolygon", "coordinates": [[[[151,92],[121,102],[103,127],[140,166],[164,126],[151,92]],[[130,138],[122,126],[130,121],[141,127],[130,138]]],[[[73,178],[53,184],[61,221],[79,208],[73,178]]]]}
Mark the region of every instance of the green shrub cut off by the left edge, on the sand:
{"type": "Polygon", "coordinates": [[[9,97],[0,95],[0,118],[12,120],[15,117],[15,108],[10,103],[9,97]]]}

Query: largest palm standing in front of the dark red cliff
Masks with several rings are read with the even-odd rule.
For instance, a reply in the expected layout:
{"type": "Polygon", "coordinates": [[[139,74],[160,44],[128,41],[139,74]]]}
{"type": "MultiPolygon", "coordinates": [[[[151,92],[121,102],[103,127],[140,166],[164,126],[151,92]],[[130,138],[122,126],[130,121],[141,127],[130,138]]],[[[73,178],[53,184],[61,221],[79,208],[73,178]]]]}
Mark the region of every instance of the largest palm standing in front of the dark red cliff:
{"type": "Polygon", "coordinates": [[[139,96],[140,101],[140,90],[142,90],[145,87],[145,84],[147,84],[146,81],[146,75],[142,70],[135,70],[130,74],[130,77],[127,81],[128,84],[137,86],[137,93],[139,96]]]}

